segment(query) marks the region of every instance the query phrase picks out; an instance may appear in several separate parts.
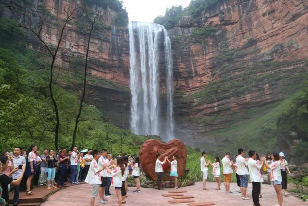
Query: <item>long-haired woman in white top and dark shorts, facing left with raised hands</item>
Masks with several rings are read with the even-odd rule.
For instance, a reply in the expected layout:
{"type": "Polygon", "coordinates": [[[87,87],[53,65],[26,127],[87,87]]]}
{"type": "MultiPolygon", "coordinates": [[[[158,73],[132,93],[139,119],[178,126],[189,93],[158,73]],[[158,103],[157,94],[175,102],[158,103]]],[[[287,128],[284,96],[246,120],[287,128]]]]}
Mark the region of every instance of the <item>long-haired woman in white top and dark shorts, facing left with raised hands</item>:
{"type": "Polygon", "coordinates": [[[121,187],[122,187],[122,177],[125,173],[125,167],[122,161],[122,157],[118,156],[113,162],[113,170],[111,171],[109,167],[106,167],[109,173],[112,175],[111,185],[115,187],[116,194],[118,197],[118,204],[119,206],[122,205],[122,194],[121,194],[121,187]]]}

